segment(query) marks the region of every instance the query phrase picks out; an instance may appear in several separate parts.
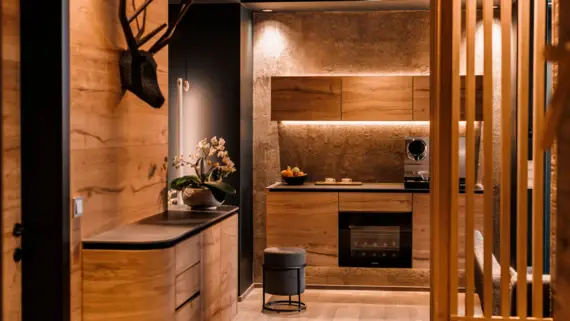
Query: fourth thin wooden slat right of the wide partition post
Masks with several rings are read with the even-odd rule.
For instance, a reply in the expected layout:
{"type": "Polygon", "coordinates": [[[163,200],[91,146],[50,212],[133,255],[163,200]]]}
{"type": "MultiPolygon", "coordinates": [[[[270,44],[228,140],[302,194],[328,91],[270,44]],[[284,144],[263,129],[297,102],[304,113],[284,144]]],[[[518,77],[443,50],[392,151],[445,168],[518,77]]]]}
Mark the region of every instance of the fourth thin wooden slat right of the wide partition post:
{"type": "Polygon", "coordinates": [[[501,0],[501,316],[510,315],[512,0],[501,0]]]}

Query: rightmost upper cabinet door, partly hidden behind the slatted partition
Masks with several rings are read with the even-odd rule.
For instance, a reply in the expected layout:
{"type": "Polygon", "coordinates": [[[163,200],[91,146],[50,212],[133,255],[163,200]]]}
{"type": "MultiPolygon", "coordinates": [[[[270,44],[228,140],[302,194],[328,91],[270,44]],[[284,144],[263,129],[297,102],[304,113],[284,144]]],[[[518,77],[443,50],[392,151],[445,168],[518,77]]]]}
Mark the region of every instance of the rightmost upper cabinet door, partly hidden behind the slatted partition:
{"type": "MultiPolygon", "coordinates": [[[[429,121],[430,120],[430,77],[414,76],[414,120],[429,121]]],[[[475,119],[483,120],[483,76],[475,77],[475,119]]],[[[466,106],[466,89],[467,84],[465,77],[461,77],[461,120],[465,120],[466,106]]]]}

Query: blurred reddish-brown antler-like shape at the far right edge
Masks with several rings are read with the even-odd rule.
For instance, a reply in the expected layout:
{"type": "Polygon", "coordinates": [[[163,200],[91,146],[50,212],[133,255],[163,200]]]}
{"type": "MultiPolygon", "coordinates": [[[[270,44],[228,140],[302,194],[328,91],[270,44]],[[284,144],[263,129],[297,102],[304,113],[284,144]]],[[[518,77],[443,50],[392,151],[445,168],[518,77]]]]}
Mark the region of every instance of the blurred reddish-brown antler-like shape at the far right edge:
{"type": "Polygon", "coordinates": [[[568,100],[570,98],[570,42],[556,47],[546,48],[546,60],[559,63],[558,88],[552,95],[550,107],[546,112],[546,123],[542,136],[542,148],[549,149],[554,143],[556,132],[561,125],[562,116],[570,108],[568,100]]]}

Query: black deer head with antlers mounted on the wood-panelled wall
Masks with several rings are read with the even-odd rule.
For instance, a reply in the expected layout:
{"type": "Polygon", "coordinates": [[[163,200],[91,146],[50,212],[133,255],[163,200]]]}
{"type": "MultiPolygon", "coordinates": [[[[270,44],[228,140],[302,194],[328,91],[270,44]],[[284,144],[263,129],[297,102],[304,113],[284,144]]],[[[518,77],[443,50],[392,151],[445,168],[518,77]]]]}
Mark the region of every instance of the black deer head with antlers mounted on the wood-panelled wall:
{"type": "Polygon", "coordinates": [[[160,108],[164,104],[164,96],[158,86],[157,64],[154,60],[154,55],[168,45],[176,26],[180,23],[190,5],[192,5],[193,0],[183,0],[180,11],[168,25],[164,23],[146,36],[143,36],[146,25],[146,9],[154,0],[146,0],[139,8],[135,9],[132,17],[127,16],[127,0],[120,1],[119,19],[128,45],[128,50],[121,53],[119,62],[123,88],[131,91],[152,107],[160,108]],[[143,14],[143,22],[142,26],[139,26],[137,17],[141,13],[143,14]],[[131,29],[131,22],[134,20],[136,20],[138,27],[136,36],[131,29]],[[148,51],[139,49],[167,26],[166,32],[148,51]]]}

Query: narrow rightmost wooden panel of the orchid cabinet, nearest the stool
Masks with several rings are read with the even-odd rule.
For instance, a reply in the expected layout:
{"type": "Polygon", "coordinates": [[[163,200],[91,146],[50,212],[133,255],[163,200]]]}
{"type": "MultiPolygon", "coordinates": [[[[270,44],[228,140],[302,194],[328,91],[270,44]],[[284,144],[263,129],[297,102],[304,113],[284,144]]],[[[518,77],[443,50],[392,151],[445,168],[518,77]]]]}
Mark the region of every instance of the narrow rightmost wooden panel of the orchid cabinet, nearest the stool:
{"type": "Polygon", "coordinates": [[[221,320],[232,320],[238,313],[238,216],[220,223],[221,320]]]}

